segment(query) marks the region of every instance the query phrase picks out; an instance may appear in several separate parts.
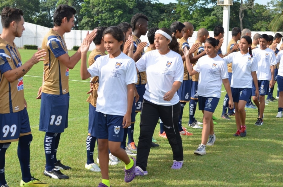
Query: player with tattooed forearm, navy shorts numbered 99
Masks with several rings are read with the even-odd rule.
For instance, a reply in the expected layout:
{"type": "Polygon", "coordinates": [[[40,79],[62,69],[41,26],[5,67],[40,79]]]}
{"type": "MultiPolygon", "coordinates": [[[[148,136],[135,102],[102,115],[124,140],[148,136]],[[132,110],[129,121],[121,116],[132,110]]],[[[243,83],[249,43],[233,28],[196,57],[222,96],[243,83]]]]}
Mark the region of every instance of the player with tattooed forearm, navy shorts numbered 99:
{"type": "Polygon", "coordinates": [[[11,142],[18,143],[18,158],[22,173],[20,186],[48,187],[31,176],[30,144],[32,141],[29,116],[24,98],[23,76],[33,65],[44,59],[44,50],[36,52],[22,64],[15,37],[21,37],[24,27],[23,12],[18,8],[3,8],[3,32],[0,36],[0,186],[8,187],[5,179],[5,153],[11,142]]]}

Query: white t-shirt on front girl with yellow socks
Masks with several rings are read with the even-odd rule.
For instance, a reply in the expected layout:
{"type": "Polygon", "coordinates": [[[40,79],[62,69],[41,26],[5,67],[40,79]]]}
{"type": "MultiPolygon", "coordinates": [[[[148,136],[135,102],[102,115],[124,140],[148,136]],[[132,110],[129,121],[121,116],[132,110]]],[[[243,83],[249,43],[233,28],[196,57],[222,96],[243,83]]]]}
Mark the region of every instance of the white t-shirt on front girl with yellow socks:
{"type": "Polygon", "coordinates": [[[128,84],[137,82],[135,61],[121,52],[115,58],[100,56],[87,71],[99,76],[96,111],[108,115],[122,115],[128,107],[128,84]]]}

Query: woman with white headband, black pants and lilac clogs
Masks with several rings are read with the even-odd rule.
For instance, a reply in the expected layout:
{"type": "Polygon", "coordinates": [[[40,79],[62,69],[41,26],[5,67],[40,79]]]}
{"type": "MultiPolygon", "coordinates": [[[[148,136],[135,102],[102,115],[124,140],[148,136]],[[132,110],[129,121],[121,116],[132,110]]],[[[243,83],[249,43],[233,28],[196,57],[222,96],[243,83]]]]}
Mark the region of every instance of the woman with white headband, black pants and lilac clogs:
{"type": "Polygon", "coordinates": [[[143,96],[140,136],[137,147],[136,175],[147,175],[147,159],[159,116],[173,152],[172,169],[183,165],[183,145],[178,130],[180,99],[177,90],[183,81],[183,61],[175,36],[167,28],[155,32],[157,50],[144,54],[136,62],[137,72],[147,73],[143,96]]]}

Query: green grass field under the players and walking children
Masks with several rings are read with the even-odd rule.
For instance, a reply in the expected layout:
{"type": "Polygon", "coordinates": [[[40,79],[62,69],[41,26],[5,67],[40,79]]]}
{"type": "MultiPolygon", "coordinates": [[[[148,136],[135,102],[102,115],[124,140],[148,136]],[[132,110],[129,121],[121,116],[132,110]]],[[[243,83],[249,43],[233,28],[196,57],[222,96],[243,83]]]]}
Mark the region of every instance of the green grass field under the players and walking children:
{"type": "MultiPolygon", "coordinates": [[[[22,61],[27,61],[35,50],[19,50],[22,61]]],[[[69,51],[69,55],[74,51],[69,51]]],[[[44,132],[38,131],[40,100],[36,100],[38,88],[42,83],[42,62],[35,65],[24,77],[25,99],[28,104],[33,141],[31,143],[31,173],[35,178],[47,182],[53,187],[97,186],[101,182],[101,174],[84,168],[86,163],[86,136],[88,129],[88,103],[86,102],[89,83],[80,79],[80,62],[69,75],[69,128],[61,135],[57,158],[72,167],[63,173],[68,180],[50,179],[43,175],[45,154],[43,147],[44,132]],[[30,77],[38,76],[38,77],[30,77]],[[77,81],[71,81],[77,80],[77,81]]],[[[275,90],[277,84],[275,85],[275,90]]],[[[224,88],[222,89],[224,90],[224,88]]],[[[222,93],[219,105],[214,113],[220,118],[222,93]]],[[[275,94],[274,94],[275,96],[275,94]]],[[[117,106],[118,107],[118,106],[117,106]]],[[[264,125],[254,126],[257,110],[247,109],[247,136],[232,136],[236,132],[235,118],[217,120],[215,125],[216,142],[207,147],[207,155],[197,156],[193,152],[201,142],[201,129],[188,131],[193,136],[182,136],[184,147],[184,165],[180,170],[172,170],[172,150],[168,140],[158,136],[159,124],[154,138],[160,147],[153,148],[148,159],[148,175],[137,177],[131,183],[124,182],[124,165],[122,163],[109,167],[110,184],[114,187],[165,187],[165,186],[283,186],[283,134],[282,119],[275,118],[277,102],[266,106],[264,125]]],[[[183,115],[183,126],[188,122],[188,104],[183,115]]],[[[202,114],[197,110],[196,118],[202,121],[202,114]]],[[[139,118],[136,117],[135,141],[138,143],[139,118]]],[[[97,147],[95,148],[97,150],[97,147]]],[[[10,187],[19,186],[21,172],[17,158],[17,142],[13,142],[6,152],[6,180],[10,187]]],[[[94,152],[96,157],[97,151],[94,152]]]]}

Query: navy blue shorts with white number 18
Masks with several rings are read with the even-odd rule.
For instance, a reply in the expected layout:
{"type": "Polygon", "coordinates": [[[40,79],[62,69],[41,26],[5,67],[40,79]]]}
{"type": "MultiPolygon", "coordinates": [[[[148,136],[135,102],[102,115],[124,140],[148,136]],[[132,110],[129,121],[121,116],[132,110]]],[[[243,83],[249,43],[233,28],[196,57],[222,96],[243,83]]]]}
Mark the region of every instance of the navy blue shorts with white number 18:
{"type": "Polygon", "coordinates": [[[54,95],[42,93],[39,130],[61,133],[68,128],[69,93],[54,95]]]}

